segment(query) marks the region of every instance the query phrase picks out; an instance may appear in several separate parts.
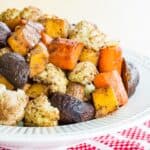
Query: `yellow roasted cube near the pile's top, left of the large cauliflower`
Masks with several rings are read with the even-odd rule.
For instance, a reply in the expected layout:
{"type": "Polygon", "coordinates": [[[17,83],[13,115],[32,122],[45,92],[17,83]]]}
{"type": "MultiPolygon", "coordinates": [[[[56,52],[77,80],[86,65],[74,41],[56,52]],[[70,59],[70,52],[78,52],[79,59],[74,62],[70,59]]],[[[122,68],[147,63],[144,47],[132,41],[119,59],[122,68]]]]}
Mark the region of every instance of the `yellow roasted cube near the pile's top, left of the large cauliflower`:
{"type": "Polygon", "coordinates": [[[45,32],[52,38],[66,38],[69,31],[68,21],[60,18],[46,18],[41,22],[45,27],[45,32]]]}

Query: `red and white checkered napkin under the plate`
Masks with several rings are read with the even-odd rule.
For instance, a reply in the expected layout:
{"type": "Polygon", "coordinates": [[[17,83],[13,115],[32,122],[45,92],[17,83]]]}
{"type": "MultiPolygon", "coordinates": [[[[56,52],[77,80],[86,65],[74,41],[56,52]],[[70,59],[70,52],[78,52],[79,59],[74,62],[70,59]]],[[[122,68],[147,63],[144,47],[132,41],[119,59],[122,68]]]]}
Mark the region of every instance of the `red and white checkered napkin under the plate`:
{"type": "Polygon", "coordinates": [[[150,150],[150,120],[114,134],[88,139],[67,150],[150,150]]]}

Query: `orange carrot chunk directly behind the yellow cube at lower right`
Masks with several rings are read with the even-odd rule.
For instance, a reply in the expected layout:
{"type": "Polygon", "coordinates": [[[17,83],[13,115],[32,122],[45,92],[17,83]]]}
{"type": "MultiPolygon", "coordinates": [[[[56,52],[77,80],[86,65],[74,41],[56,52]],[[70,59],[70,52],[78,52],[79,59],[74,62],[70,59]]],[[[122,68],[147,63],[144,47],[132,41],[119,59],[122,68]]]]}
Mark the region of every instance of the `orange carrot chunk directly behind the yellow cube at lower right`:
{"type": "Polygon", "coordinates": [[[121,76],[115,71],[98,74],[94,79],[96,88],[112,87],[117,97],[119,106],[127,103],[128,95],[124,88],[121,76]]]}

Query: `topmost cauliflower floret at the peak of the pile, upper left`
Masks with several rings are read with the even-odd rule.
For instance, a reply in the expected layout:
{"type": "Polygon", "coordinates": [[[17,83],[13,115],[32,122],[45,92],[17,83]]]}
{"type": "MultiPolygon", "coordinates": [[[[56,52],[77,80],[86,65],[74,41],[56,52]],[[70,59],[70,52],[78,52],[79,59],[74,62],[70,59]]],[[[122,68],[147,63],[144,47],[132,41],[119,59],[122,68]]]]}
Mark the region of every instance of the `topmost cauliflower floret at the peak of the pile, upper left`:
{"type": "Polygon", "coordinates": [[[36,7],[26,7],[22,10],[20,16],[25,20],[37,21],[43,15],[42,11],[36,7]]]}

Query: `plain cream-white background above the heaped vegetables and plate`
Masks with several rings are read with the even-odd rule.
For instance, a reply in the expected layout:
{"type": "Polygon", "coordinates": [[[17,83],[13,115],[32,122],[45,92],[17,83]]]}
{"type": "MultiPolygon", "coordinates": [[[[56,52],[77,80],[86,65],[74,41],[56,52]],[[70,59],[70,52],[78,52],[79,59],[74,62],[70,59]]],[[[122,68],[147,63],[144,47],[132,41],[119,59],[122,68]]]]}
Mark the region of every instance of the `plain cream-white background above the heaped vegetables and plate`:
{"type": "Polygon", "coordinates": [[[123,46],[150,56],[149,0],[0,0],[0,10],[28,5],[71,22],[94,22],[123,46]]]}

